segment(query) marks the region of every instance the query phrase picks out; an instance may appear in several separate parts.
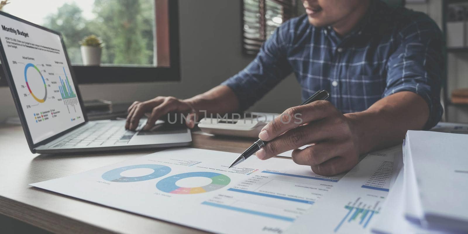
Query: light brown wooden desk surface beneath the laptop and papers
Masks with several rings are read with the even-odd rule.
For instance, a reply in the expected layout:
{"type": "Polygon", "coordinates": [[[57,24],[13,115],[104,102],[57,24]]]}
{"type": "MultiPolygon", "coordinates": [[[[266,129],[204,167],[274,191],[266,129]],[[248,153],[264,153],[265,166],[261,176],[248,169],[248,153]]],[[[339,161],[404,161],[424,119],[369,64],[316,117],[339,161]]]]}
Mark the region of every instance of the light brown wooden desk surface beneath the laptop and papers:
{"type": "MultiPolygon", "coordinates": [[[[192,134],[192,147],[241,153],[252,139],[192,134]]],[[[149,154],[31,154],[20,126],[0,126],[0,214],[53,233],[204,233],[189,227],[37,189],[30,183],[69,176],[149,154]]]]}

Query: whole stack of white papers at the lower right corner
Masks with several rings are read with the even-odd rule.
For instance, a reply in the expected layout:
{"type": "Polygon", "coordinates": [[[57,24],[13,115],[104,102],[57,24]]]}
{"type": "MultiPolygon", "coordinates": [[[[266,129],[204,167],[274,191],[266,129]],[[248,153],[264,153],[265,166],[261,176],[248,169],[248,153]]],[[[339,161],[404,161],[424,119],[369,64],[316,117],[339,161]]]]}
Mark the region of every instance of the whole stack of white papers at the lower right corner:
{"type": "Polygon", "coordinates": [[[373,233],[468,232],[468,135],[408,131],[373,233]]]}

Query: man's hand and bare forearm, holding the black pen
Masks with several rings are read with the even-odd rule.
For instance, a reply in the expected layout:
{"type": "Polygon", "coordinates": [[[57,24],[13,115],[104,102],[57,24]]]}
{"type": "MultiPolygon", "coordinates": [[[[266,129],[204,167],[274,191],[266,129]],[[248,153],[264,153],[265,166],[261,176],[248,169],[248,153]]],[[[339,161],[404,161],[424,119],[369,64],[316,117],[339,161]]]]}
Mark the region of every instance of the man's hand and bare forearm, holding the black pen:
{"type": "Polygon", "coordinates": [[[270,142],[257,151],[257,157],[265,160],[295,149],[296,163],[323,176],[336,175],[353,168],[361,154],[401,143],[406,131],[422,129],[428,118],[427,103],[409,91],[344,115],[330,102],[316,101],[292,107],[263,127],[258,137],[270,142]],[[312,146],[297,149],[304,145],[312,146]]]}

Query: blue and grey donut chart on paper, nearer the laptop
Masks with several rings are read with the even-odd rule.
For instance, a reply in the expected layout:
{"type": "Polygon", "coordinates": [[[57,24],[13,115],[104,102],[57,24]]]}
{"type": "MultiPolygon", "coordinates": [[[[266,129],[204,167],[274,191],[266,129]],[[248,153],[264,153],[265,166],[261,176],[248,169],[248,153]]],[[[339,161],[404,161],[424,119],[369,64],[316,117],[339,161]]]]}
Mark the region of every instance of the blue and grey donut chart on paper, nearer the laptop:
{"type": "Polygon", "coordinates": [[[158,164],[140,164],[140,165],[131,165],[121,168],[112,169],[104,174],[102,174],[102,179],[111,181],[111,182],[139,182],[145,180],[152,180],[161,176],[166,176],[171,171],[171,168],[158,164]],[[121,176],[121,173],[127,170],[137,169],[137,168],[149,168],[153,169],[154,172],[145,176],[135,176],[127,177],[121,176]]]}

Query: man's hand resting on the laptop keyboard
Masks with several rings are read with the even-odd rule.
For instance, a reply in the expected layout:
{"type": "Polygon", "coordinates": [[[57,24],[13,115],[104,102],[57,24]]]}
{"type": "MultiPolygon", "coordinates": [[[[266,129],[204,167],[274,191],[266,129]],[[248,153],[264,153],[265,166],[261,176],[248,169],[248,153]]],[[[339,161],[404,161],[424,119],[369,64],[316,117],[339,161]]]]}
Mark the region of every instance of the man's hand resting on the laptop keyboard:
{"type": "MultiPolygon", "coordinates": [[[[159,118],[167,115],[170,112],[189,114],[185,124],[189,128],[195,126],[194,111],[192,104],[189,101],[183,101],[175,97],[156,97],[146,102],[133,102],[128,108],[127,122],[125,123],[125,129],[135,130],[138,127],[138,123],[141,117],[145,113],[151,113],[148,117],[144,130],[150,130],[154,127],[154,123],[159,118]]],[[[179,118],[179,117],[177,117],[179,118]]],[[[179,121],[180,119],[177,119],[179,121]]]]}

